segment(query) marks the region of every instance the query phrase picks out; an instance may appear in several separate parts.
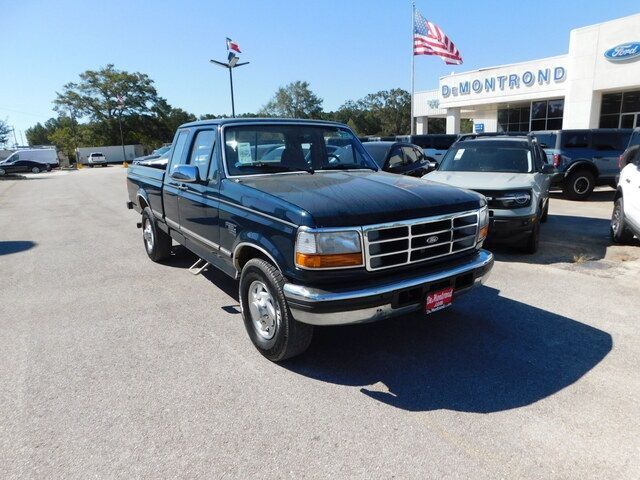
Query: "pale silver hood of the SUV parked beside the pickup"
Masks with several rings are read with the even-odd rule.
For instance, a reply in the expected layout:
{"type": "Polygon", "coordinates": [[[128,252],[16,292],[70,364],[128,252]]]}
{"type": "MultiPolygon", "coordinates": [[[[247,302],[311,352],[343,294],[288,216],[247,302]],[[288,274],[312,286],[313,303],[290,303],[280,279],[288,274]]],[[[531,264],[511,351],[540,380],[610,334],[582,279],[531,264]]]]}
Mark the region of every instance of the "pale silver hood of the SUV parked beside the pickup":
{"type": "Polygon", "coordinates": [[[534,175],[534,173],[439,172],[436,170],[422,178],[470,190],[513,190],[531,188],[535,183],[534,175]]]}

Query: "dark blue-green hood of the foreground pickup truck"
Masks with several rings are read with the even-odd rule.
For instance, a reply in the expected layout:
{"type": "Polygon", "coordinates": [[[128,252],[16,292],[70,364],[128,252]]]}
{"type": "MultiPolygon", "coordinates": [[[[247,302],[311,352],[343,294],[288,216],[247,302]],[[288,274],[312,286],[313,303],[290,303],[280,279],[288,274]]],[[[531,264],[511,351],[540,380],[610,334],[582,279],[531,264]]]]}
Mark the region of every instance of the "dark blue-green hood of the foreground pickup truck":
{"type": "Polygon", "coordinates": [[[480,208],[475,192],[374,171],[245,177],[240,183],[308,212],[315,227],[371,225],[480,208]]]}

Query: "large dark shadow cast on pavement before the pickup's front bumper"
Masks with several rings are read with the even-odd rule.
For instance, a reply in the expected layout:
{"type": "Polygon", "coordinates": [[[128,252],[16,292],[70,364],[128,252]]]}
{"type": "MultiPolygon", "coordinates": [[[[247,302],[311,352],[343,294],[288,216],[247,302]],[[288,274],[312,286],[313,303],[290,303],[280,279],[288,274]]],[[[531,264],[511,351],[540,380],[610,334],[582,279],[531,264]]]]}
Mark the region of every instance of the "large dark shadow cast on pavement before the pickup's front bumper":
{"type": "Polygon", "coordinates": [[[316,329],[283,366],[404,410],[489,413],[557,393],[611,348],[606,332],[485,287],[430,317],[316,329]]]}

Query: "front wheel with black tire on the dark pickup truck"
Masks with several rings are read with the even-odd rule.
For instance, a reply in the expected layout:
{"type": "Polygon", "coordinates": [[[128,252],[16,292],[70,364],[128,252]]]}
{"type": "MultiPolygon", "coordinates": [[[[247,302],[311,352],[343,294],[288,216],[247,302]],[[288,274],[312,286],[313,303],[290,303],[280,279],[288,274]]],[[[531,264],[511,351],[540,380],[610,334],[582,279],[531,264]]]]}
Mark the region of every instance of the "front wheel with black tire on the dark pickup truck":
{"type": "Polygon", "coordinates": [[[298,322],[291,316],[282,288],[284,283],[280,271],[261,258],[249,260],[240,275],[239,298],[244,326],[258,351],[272,362],[300,355],[309,347],[313,337],[312,325],[298,322]],[[260,307],[253,302],[250,304],[249,298],[252,294],[250,289],[263,287],[268,293],[268,306],[273,307],[275,311],[275,317],[270,323],[273,326],[268,330],[263,321],[263,318],[268,319],[268,312],[259,311],[260,307]],[[262,315],[260,320],[254,321],[252,309],[262,315]],[[262,328],[258,326],[261,322],[262,328]]]}

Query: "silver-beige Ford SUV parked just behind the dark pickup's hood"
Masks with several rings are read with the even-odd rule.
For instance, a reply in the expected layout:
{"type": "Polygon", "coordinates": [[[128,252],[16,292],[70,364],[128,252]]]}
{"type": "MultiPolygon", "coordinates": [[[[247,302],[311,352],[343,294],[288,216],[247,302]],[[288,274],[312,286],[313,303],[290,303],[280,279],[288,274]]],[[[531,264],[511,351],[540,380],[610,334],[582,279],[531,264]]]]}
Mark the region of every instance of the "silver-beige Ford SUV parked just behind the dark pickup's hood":
{"type": "Polygon", "coordinates": [[[489,241],[535,253],[549,212],[553,166],[531,136],[474,137],[453,144],[438,170],[424,178],[483,194],[489,241]]]}

